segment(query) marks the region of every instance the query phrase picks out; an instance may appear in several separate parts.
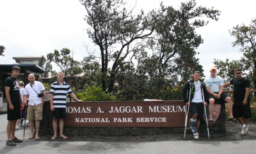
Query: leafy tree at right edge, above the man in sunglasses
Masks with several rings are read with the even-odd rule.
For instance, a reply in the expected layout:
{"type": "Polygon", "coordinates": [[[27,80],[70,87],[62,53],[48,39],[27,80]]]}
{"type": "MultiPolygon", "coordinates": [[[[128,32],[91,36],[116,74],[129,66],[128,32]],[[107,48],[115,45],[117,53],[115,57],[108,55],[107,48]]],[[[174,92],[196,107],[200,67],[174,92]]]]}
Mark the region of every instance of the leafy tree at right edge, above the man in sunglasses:
{"type": "Polygon", "coordinates": [[[241,64],[244,64],[244,71],[248,71],[248,78],[253,81],[253,88],[256,88],[256,18],[250,25],[236,25],[230,31],[230,35],[236,38],[233,46],[241,46],[243,52],[241,64]]]}

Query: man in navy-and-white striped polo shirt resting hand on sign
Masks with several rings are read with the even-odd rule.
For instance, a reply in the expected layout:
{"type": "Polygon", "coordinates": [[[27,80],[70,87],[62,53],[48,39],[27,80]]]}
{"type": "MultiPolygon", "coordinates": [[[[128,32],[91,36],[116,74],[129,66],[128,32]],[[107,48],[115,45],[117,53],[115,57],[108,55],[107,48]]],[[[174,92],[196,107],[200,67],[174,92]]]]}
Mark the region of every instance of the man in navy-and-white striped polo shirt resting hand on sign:
{"type": "Polygon", "coordinates": [[[60,127],[60,137],[67,139],[67,136],[63,134],[64,127],[64,118],[66,118],[66,103],[67,103],[67,94],[70,94],[73,99],[77,102],[81,100],[77,99],[76,95],[72,92],[69,85],[63,81],[64,73],[59,72],[57,74],[58,81],[52,83],[50,90],[50,103],[52,111],[52,127],[53,127],[53,136],[52,140],[57,137],[57,121],[59,120],[60,127]]]}

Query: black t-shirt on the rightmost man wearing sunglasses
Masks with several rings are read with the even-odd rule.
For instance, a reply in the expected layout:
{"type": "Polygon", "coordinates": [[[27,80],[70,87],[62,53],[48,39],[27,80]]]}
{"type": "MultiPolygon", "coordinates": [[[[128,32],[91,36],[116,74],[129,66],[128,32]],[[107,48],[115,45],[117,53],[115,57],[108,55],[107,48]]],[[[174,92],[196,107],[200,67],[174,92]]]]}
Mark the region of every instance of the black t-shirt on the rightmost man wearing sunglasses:
{"type": "MultiPolygon", "coordinates": [[[[245,88],[250,88],[250,81],[246,78],[237,79],[234,78],[230,81],[231,85],[234,85],[234,101],[243,102],[245,95],[245,88]]],[[[249,99],[249,98],[248,98],[249,99]]],[[[248,102],[250,102],[248,100],[248,102]]]]}

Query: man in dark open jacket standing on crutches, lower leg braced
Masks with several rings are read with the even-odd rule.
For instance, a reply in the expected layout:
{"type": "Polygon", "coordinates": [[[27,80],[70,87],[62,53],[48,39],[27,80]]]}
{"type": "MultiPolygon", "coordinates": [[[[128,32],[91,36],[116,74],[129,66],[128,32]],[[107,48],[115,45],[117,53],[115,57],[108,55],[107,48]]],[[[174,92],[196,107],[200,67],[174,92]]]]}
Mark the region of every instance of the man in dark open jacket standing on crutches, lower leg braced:
{"type": "MultiPolygon", "coordinates": [[[[193,80],[189,81],[184,85],[182,89],[182,95],[186,106],[189,106],[188,111],[190,111],[192,118],[189,120],[189,129],[191,130],[195,139],[198,139],[198,128],[200,126],[200,120],[204,116],[204,106],[209,104],[209,98],[207,90],[205,88],[205,83],[200,81],[201,73],[200,71],[195,71],[193,74],[193,80]],[[203,98],[204,97],[204,98],[203,98]],[[204,100],[206,102],[204,102],[204,100]]],[[[186,113],[186,119],[188,118],[188,113],[186,113]]],[[[185,127],[186,127],[185,122],[185,127]]],[[[186,130],[186,128],[185,128],[186,130]]],[[[184,137],[186,136],[186,132],[184,137]]]]}

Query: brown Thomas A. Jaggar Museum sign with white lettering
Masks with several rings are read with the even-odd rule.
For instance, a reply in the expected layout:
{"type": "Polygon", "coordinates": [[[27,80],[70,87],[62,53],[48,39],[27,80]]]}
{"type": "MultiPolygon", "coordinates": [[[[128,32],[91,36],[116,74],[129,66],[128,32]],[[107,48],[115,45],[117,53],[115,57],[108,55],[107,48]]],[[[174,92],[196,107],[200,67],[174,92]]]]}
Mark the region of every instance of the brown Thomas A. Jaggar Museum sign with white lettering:
{"type": "Polygon", "coordinates": [[[184,127],[184,105],[184,101],[67,102],[64,123],[65,127],[184,127]]]}

